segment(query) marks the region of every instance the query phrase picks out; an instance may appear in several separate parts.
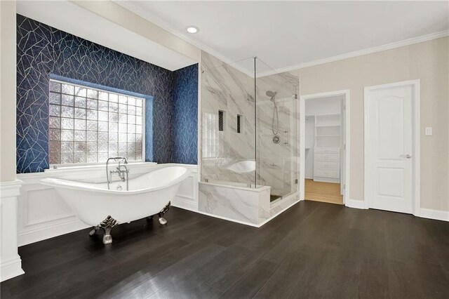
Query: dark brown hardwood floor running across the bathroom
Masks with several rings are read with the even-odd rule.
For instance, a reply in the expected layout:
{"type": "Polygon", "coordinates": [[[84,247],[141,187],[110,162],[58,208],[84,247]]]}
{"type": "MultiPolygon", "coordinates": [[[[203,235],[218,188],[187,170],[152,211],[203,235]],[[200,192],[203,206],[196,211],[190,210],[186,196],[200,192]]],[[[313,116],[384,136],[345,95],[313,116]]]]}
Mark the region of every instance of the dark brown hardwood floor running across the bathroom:
{"type": "Polygon", "coordinates": [[[449,223],[302,201],[261,228],[171,208],[19,248],[1,298],[449,298],[449,223]]]}

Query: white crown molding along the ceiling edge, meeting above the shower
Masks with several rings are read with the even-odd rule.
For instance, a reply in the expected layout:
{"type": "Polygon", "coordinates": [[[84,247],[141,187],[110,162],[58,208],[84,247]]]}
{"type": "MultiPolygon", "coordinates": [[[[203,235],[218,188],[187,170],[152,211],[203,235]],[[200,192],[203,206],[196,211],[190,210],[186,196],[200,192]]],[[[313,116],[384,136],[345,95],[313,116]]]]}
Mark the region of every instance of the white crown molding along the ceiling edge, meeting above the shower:
{"type": "MultiPolygon", "coordinates": [[[[223,62],[225,62],[227,64],[231,64],[231,63],[235,62],[234,60],[228,58],[227,56],[222,55],[222,53],[219,53],[218,51],[215,51],[213,48],[210,48],[206,44],[203,44],[200,41],[196,41],[195,39],[189,38],[189,36],[187,36],[187,34],[181,33],[178,29],[175,29],[175,27],[170,25],[168,22],[162,20],[161,18],[157,17],[156,15],[149,13],[148,11],[138,10],[134,6],[130,5],[130,3],[128,1],[124,1],[124,0],[112,0],[112,1],[114,1],[119,6],[122,6],[123,8],[128,9],[128,11],[131,11],[131,12],[135,13],[136,15],[139,15],[140,17],[145,18],[149,22],[153,22],[155,25],[167,30],[168,32],[174,34],[175,36],[178,36],[180,39],[184,39],[185,41],[189,42],[190,44],[200,48],[203,51],[206,51],[207,53],[215,56],[216,58],[222,60],[223,62]]],[[[375,46],[372,48],[366,48],[363,50],[349,52],[349,53],[345,53],[342,55],[335,55],[335,56],[331,56],[328,58],[322,58],[319,60],[302,62],[297,65],[290,65],[288,67],[281,67],[279,69],[274,69],[272,71],[261,72],[261,73],[257,74],[257,77],[266,77],[266,76],[270,76],[272,74],[291,72],[291,71],[295,71],[297,69],[304,69],[305,67],[313,67],[315,65],[323,65],[328,62],[334,62],[334,61],[338,61],[338,60],[354,58],[354,57],[367,55],[367,54],[371,54],[371,53],[376,53],[376,52],[380,52],[380,51],[391,50],[391,49],[399,48],[402,46],[409,46],[409,45],[413,45],[413,44],[422,43],[424,41],[431,41],[432,39],[440,39],[441,37],[445,37],[445,36],[449,36],[449,29],[443,30],[441,32],[434,32],[431,34],[413,37],[411,39],[404,39],[402,41],[394,41],[393,43],[384,44],[382,46],[375,46]]],[[[241,71],[249,76],[253,76],[253,74],[251,72],[249,72],[248,69],[245,69],[236,64],[234,64],[232,66],[236,69],[239,69],[239,71],[241,71]]]]}

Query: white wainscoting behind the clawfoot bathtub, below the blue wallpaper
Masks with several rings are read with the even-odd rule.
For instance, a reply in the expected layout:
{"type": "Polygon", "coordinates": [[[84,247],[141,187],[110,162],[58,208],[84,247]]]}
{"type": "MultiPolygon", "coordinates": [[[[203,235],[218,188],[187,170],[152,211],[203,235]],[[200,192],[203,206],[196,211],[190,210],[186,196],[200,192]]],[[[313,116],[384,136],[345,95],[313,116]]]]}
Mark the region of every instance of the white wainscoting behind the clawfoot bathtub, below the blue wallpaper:
{"type": "MultiPolygon", "coordinates": [[[[191,175],[182,182],[172,201],[173,206],[198,211],[198,166],[185,164],[128,164],[130,178],[166,166],[185,166],[191,175]]],[[[104,182],[105,166],[77,166],[49,169],[43,173],[18,174],[22,180],[18,196],[18,245],[49,239],[88,227],[76,218],[65,201],[51,187],[40,184],[43,178],[60,178],[82,182],[104,182]]]]}

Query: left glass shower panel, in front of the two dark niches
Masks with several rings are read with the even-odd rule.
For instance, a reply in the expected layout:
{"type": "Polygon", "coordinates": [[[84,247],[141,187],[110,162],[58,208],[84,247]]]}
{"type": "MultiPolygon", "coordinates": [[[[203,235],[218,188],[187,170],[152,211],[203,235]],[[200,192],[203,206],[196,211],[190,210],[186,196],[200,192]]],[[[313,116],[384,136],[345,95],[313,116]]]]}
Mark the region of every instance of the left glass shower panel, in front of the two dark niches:
{"type": "Polygon", "coordinates": [[[201,54],[201,180],[255,187],[254,58],[201,54]],[[243,67],[246,66],[246,67],[243,67]]]}

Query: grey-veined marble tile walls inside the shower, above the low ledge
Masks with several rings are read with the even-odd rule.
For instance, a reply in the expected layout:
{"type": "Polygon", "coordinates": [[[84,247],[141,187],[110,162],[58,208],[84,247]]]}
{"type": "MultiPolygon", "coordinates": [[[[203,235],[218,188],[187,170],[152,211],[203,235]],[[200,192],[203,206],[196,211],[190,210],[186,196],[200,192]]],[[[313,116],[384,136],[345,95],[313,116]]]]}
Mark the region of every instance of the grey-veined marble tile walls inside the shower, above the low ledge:
{"type": "Polygon", "coordinates": [[[297,77],[282,74],[257,78],[255,126],[253,77],[204,52],[201,54],[201,70],[202,179],[254,184],[256,178],[257,185],[271,186],[272,194],[283,196],[294,192],[299,161],[299,105],[292,96],[298,92],[297,77]],[[278,92],[279,144],[272,142],[274,104],[266,91],[278,92]],[[225,131],[217,131],[219,109],[227,115],[225,131]],[[237,114],[242,114],[244,119],[241,134],[236,132],[237,114]],[[242,161],[255,160],[255,133],[256,173],[254,170],[242,171],[245,167],[234,166],[242,161]]]}

